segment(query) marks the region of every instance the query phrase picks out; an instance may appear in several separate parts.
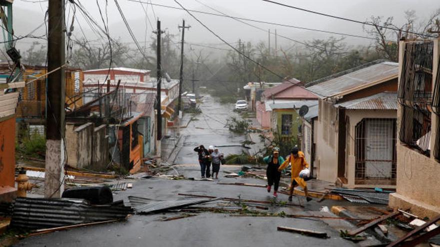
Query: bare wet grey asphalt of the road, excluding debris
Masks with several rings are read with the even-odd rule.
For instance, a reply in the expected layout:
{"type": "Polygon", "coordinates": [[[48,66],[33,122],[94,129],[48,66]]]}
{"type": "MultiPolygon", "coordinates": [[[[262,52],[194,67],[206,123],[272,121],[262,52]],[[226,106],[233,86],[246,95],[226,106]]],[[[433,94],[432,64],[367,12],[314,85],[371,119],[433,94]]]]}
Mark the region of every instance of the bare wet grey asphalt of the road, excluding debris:
{"type": "MultiPolygon", "coordinates": [[[[198,116],[199,120],[193,121],[188,128],[182,131],[185,139],[176,163],[192,164],[178,165],[176,169],[185,177],[199,177],[199,166],[193,148],[196,145],[222,145],[236,143],[244,140],[243,136],[228,133],[223,124],[206,116],[215,116],[225,122],[228,114],[232,113],[232,106],[223,106],[216,103],[213,98],[206,97],[201,108],[204,114],[198,116]],[[204,129],[198,129],[204,128],[204,129]]],[[[222,152],[238,153],[241,148],[222,148],[222,152]]],[[[240,182],[264,184],[264,181],[254,178],[225,178],[223,171],[240,170],[239,166],[222,166],[220,168],[220,182],[240,182]]],[[[170,174],[174,173],[173,171],[170,174]]],[[[217,197],[242,198],[252,200],[271,199],[264,188],[220,185],[211,181],[167,180],[167,179],[141,179],[133,183],[133,188],[117,192],[114,200],[123,199],[128,202],[128,196],[145,197],[156,200],[182,199],[178,193],[210,195],[217,197]]],[[[286,201],[285,195],[279,199],[286,201]]],[[[334,202],[324,201],[305,203],[303,198],[295,198],[293,203],[300,200],[305,208],[275,207],[269,211],[286,214],[316,214],[321,206],[331,206],[334,202]]],[[[210,203],[218,206],[218,202],[210,203]]],[[[329,214],[329,213],[326,213],[329,214]]],[[[82,227],[68,231],[55,232],[35,237],[26,238],[16,246],[160,246],[160,247],[264,247],[264,246],[354,246],[349,241],[339,237],[339,233],[329,227],[327,223],[316,219],[287,219],[281,217],[231,217],[228,214],[201,213],[197,216],[174,221],[161,222],[164,216],[178,216],[179,213],[166,213],[155,215],[133,215],[128,220],[117,223],[82,227]],[[278,232],[277,226],[302,228],[313,231],[326,232],[329,239],[318,239],[299,234],[278,232]]],[[[339,224],[344,223],[337,220],[339,224]]],[[[332,221],[334,224],[335,221],[332,221]]]]}

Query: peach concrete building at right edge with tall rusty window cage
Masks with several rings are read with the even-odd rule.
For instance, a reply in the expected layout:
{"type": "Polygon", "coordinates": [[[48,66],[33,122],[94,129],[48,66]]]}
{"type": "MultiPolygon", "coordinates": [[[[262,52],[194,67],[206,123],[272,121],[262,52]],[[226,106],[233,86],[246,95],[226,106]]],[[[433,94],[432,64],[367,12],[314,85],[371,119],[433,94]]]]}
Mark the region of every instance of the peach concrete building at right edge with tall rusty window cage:
{"type": "Polygon", "coordinates": [[[440,40],[401,41],[396,193],[389,206],[440,214],[440,40]]]}

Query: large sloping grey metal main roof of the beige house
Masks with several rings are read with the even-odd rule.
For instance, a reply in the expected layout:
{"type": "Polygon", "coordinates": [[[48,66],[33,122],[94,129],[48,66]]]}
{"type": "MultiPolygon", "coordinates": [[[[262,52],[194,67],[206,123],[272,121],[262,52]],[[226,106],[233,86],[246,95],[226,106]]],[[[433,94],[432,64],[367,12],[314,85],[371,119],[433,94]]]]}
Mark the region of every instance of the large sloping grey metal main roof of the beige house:
{"type": "Polygon", "coordinates": [[[398,63],[374,61],[308,83],[307,90],[321,98],[344,95],[352,90],[360,90],[390,79],[397,78],[398,63]]]}

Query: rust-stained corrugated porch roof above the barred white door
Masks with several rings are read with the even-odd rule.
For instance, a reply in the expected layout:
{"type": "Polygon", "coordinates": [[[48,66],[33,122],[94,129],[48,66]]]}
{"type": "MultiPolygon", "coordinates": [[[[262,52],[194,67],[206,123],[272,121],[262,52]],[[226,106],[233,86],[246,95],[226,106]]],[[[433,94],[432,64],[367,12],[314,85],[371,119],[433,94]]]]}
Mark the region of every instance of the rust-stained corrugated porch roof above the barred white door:
{"type": "Polygon", "coordinates": [[[397,110],[397,93],[381,92],[335,105],[351,110],[397,110]]]}

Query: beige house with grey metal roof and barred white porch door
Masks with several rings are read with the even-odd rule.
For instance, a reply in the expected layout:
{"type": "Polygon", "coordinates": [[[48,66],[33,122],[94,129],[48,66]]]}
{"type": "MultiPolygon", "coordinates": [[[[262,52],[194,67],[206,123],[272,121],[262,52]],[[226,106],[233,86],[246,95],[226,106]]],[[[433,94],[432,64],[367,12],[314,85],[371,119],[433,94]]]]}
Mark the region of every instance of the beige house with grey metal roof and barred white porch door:
{"type": "Polygon", "coordinates": [[[375,61],[308,84],[319,96],[318,179],[395,187],[397,74],[397,63],[375,61]]]}

